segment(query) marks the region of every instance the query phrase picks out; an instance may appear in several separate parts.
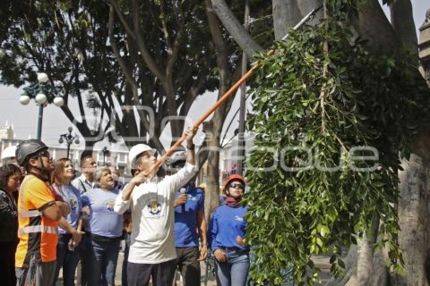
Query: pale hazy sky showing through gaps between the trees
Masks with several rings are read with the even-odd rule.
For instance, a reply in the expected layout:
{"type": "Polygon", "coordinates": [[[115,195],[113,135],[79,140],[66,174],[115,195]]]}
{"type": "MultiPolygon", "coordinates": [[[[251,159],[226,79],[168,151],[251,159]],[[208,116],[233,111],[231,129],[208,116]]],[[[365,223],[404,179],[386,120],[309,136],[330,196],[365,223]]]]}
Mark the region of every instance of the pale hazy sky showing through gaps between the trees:
{"type": "MultiPolygon", "coordinates": [[[[428,0],[412,0],[413,15],[415,20],[415,26],[418,28],[424,21],[426,9],[430,9],[430,2],[428,0]]],[[[388,9],[384,9],[388,13],[388,9]]],[[[34,136],[36,124],[37,124],[37,107],[34,101],[30,102],[27,106],[23,106],[19,103],[18,99],[22,89],[17,89],[13,86],[0,85],[0,124],[13,124],[17,138],[28,138],[28,136],[34,136]]],[[[195,121],[201,116],[215,101],[217,94],[209,92],[203,94],[193,104],[191,108],[190,117],[191,121],[195,121]]],[[[232,113],[234,113],[238,106],[239,101],[236,97],[232,112],[227,118],[226,122],[230,122],[232,113]]],[[[69,103],[72,112],[78,114],[77,104],[73,102],[69,103]]],[[[237,120],[234,120],[235,124],[230,129],[230,133],[237,128],[237,120]]],[[[67,127],[72,124],[63,114],[63,112],[54,105],[49,105],[44,111],[44,121],[42,125],[42,139],[49,144],[58,144],[59,134],[66,133],[67,127]]],[[[75,128],[74,128],[75,129],[75,128]]],[[[200,136],[201,133],[198,134],[200,136]]],[[[231,136],[228,135],[227,138],[231,136]]],[[[102,144],[105,146],[106,144],[102,144]]]]}

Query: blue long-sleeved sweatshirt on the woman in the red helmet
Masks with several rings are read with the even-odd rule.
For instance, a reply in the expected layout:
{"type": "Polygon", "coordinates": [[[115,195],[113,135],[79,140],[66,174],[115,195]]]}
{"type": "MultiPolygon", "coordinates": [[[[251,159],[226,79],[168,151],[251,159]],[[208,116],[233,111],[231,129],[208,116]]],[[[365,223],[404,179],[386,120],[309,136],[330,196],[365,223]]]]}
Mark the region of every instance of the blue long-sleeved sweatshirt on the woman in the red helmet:
{"type": "Polygon", "coordinates": [[[212,215],[207,230],[207,240],[212,251],[220,247],[234,247],[249,251],[249,246],[240,246],[236,243],[236,236],[245,236],[246,219],[244,215],[248,207],[232,208],[227,205],[218,207],[212,215]]]}

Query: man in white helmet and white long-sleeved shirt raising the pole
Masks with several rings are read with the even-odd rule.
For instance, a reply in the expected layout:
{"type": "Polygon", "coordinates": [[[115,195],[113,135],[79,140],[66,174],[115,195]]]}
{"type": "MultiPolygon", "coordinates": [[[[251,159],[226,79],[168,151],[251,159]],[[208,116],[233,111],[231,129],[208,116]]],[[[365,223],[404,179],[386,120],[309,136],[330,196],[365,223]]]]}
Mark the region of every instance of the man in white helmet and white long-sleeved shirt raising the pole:
{"type": "Polygon", "coordinates": [[[128,155],[132,167],[139,174],[128,183],[116,199],[114,210],[122,214],[132,212],[132,237],[127,264],[129,286],[171,286],[176,269],[175,211],[177,189],[185,185],[196,173],[193,137],[197,129],[185,131],[187,163],[178,173],[164,178],[154,170],[155,150],[144,144],[134,146],[128,155]]]}

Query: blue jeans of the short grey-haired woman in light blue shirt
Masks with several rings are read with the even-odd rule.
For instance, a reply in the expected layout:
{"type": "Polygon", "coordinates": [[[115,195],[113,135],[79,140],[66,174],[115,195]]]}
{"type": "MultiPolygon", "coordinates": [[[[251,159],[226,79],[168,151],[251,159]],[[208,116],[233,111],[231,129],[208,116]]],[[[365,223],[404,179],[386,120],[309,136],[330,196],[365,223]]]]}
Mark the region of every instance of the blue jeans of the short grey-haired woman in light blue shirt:
{"type": "Polygon", "coordinates": [[[115,269],[121,238],[108,239],[99,236],[88,240],[88,269],[90,286],[115,285],[115,269]]]}

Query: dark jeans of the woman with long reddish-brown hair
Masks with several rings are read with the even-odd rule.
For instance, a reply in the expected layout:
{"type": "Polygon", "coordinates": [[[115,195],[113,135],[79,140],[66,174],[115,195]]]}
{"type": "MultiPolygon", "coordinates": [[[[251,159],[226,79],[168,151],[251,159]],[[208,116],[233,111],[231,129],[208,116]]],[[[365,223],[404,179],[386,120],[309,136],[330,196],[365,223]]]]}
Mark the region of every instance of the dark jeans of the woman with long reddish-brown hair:
{"type": "Polygon", "coordinates": [[[79,261],[79,247],[74,251],[68,249],[68,244],[72,238],[71,234],[59,234],[57,244],[57,269],[55,271],[54,285],[57,282],[61,267],[63,267],[64,286],[73,286],[75,284],[75,270],[79,261]]]}

